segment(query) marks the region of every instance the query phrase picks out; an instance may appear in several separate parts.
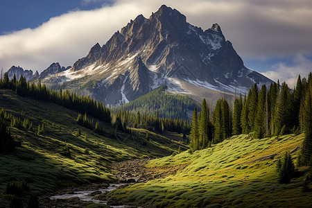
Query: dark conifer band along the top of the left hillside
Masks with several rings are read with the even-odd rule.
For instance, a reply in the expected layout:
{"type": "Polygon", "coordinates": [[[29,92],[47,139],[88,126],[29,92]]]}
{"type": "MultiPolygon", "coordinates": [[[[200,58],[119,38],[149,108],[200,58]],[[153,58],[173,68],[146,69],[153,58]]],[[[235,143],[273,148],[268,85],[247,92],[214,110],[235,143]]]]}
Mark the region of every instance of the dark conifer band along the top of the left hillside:
{"type": "MultiPolygon", "coordinates": [[[[164,91],[164,87],[162,86],[158,89],[159,92],[164,91]]],[[[184,133],[189,134],[190,125],[188,121],[184,121],[183,119],[165,119],[164,117],[159,118],[157,110],[154,112],[155,115],[152,115],[153,112],[146,112],[144,114],[140,114],[138,111],[130,111],[126,110],[128,109],[125,107],[123,109],[123,106],[119,108],[119,110],[114,110],[112,112],[109,107],[106,107],[103,105],[101,101],[95,101],[94,99],[90,98],[89,96],[78,96],[77,94],[73,92],[69,92],[69,90],[62,91],[62,88],[60,90],[54,90],[49,89],[46,87],[46,85],[42,85],[40,81],[35,85],[35,83],[28,83],[26,81],[26,78],[21,76],[19,80],[16,79],[16,76],[13,76],[12,80],[8,78],[8,73],[4,73],[3,78],[0,79],[0,89],[11,89],[12,91],[16,92],[20,96],[27,96],[30,98],[34,98],[40,101],[48,101],[51,103],[56,103],[58,105],[62,105],[63,107],[67,107],[71,110],[76,110],[80,113],[83,113],[85,116],[81,116],[82,121],[80,124],[84,125],[87,128],[93,129],[94,124],[91,121],[86,122],[83,120],[83,117],[86,118],[86,115],[92,116],[100,121],[104,121],[106,123],[118,125],[120,130],[124,130],[125,132],[128,131],[128,128],[145,128],[147,130],[152,130],[155,132],[164,132],[164,130],[169,130],[173,132],[178,133],[184,133]],[[112,120],[113,118],[113,120],[112,120]]],[[[157,92],[158,92],[157,91],[157,92]]],[[[164,103],[160,101],[164,101],[168,105],[174,105],[174,106],[192,106],[195,103],[191,98],[186,99],[183,96],[178,98],[173,98],[171,96],[165,96],[166,102],[164,99],[160,99],[156,102],[156,99],[154,101],[158,103],[157,105],[165,105],[164,103]],[[171,101],[175,102],[171,102],[171,101]],[[162,103],[162,104],[160,104],[162,103]]],[[[150,99],[150,98],[148,98],[150,99]]],[[[155,104],[156,105],[156,104],[155,104]]],[[[182,109],[184,107],[178,107],[180,111],[182,112],[182,109]]],[[[156,106],[157,108],[157,106],[156,106]]],[[[173,113],[172,113],[173,114],[173,113]]],[[[164,115],[164,114],[163,114],[164,115]]],[[[168,115],[167,115],[168,116],[168,115]]],[[[186,116],[184,112],[184,116],[186,116]]],[[[15,123],[15,119],[12,119],[15,123]]],[[[79,119],[80,121],[80,119],[79,119]]],[[[16,121],[16,125],[20,125],[21,121],[16,121]]],[[[26,121],[27,123],[27,121],[26,121]]],[[[38,126],[38,134],[40,134],[43,129],[43,126],[38,126]]],[[[105,131],[103,128],[100,128],[99,125],[96,125],[96,128],[94,128],[96,132],[98,132],[100,135],[105,135],[105,131]]]]}

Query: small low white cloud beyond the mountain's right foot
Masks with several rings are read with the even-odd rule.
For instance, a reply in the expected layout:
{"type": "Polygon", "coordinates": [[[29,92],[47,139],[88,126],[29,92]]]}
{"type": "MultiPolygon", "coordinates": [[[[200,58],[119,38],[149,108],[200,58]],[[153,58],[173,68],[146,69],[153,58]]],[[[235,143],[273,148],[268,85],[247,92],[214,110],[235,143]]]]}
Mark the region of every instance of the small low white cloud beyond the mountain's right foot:
{"type": "Polygon", "coordinates": [[[308,78],[310,71],[312,71],[312,61],[302,54],[297,54],[291,64],[279,62],[272,66],[271,71],[266,71],[262,74],[275,82],[277,80],[281,82],[286,81],[288,86],[293,88],[297,83],[298,75],[301,78],[308,78]]]}

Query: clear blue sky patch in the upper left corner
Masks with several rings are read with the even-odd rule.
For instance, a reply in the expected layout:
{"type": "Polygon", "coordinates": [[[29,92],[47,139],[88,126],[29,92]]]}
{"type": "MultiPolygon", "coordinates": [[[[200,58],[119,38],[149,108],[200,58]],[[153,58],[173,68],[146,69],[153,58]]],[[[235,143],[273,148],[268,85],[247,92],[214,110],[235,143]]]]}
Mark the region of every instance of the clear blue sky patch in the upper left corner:
{"type": "Polygon", "coordinates": [[[12,33],[24,28],[36,28],[51,17],[57,17],[69,11],[94,10],[110,6],[112,1],[79,0],[1,0],[1,34],[12,33]]]}

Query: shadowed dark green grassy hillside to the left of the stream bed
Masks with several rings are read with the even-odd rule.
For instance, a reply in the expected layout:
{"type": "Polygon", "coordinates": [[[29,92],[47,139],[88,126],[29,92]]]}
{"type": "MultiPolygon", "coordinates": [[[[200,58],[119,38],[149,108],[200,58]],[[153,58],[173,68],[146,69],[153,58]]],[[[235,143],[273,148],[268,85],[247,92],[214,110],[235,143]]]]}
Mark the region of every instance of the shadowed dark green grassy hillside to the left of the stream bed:
{"type": "MultiPolygon", "coordinates": [[[[78,112],[17,96],[10,90],[0,90],[0,107],[7,114],[20,118],[21,123],[24,119],[33,123],[33,131],[10,127],[12,136],[21,146],[13,153],[0,155],[0,189],[12,180],[25,180],[33,191],[41,193],[70,184],[114,180],[110,173],[111,162],[171,155],[180,146],[146,130],[132,130],[132,134],[126,134],[100,122],[108,135],[103,137],[78,125],[78,112]],[[44,133],[37,135],[35,130],[42,123],[44,133]],[[80,136],[76,136],[78,129],[80,136]]],[[[7,125],[10,126],[8,119],[7,125]]]]}

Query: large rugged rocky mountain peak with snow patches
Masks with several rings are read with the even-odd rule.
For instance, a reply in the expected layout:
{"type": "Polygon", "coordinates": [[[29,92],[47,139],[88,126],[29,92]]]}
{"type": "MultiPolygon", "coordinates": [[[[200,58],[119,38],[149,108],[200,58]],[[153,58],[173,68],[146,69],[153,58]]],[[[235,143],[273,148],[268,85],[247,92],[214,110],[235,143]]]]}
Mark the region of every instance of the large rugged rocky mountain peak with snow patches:
{"type": "Polygon", "coordinates": [[[221,92],[247,92],[253,83],[272,81],[247,69],[225,40],[220,26],[202,31],[179,11],[161,6],[95,44],[71,69],[48,76],[44,83],[64,83],[109,105],[132,101],[166,82],[172,92],[189,93],[181,82],[221,92]],[[90,85],[92,82],[92,85],[90,85]]]}

